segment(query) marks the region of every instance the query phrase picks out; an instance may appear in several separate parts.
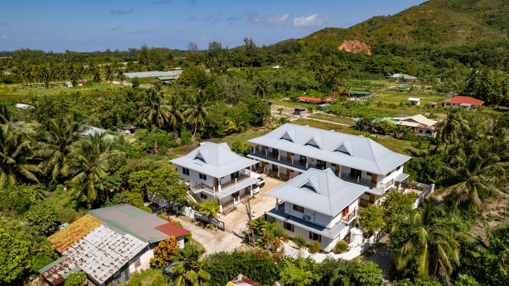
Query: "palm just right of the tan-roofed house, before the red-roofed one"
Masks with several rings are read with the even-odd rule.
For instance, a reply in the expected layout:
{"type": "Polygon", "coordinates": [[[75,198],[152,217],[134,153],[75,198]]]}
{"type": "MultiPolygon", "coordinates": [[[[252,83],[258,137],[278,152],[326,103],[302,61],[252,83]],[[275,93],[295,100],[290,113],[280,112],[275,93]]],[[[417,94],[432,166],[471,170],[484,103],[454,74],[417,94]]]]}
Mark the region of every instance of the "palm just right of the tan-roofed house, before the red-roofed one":
{"type": "Polygon", "coordinates": [[[447,147],[454,144],[456,140],[463,136],[463,129],[469,129],[468,122],[464,117],[463,108],[453,108],[438,125],[438,130],[442,134],[442,142],[445,142],[444,157],[447,147]]]}

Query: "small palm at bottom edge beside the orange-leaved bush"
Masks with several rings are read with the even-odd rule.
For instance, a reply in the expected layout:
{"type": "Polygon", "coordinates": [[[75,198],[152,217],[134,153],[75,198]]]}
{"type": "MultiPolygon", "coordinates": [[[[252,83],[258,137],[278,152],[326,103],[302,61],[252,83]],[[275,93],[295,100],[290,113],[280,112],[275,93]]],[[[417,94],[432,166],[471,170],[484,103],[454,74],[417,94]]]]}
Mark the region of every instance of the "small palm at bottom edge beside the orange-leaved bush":
{"type": "Polygon", "coordinates": [[[211,276],[203,270],[208,264],[201,260],[204,252],[194,240],[186,242],[184,248],[177,248],[177,255],[172,257],[173,264],[168,268],[174,273],[174,286],[207,286],[211,276]]]}

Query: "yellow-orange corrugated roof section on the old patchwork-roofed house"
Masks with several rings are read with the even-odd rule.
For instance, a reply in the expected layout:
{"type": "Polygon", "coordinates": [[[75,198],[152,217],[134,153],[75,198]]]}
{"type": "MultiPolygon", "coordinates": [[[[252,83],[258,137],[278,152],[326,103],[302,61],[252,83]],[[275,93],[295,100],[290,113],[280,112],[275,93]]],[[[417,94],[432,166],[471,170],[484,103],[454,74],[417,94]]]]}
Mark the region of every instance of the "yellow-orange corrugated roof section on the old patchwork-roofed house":
{"type": "Polygon", "coordinates": [[[56,251],[62,253],[71,244],[86,236],[93,231],[94,228],[101,225],[101,223],[101,220],[87,214],[49,236],[48,240],[53,244],[53,248],[56,251]]]}

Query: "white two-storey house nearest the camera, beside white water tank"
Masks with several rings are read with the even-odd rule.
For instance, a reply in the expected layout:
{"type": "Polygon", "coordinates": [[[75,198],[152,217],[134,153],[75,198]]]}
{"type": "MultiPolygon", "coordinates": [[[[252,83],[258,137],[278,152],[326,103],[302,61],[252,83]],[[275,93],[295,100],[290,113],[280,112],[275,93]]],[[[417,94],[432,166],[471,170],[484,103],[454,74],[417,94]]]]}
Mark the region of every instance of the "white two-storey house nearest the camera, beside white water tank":
{"type": "Polygon", "coordinates": [[[368,189],[341,180],[330,168],[311,168],[267,192],[276,198],[267,220],[291,237],[319,241],[321,249],[331,251],[355,226],[360,197],[368,189]]]}

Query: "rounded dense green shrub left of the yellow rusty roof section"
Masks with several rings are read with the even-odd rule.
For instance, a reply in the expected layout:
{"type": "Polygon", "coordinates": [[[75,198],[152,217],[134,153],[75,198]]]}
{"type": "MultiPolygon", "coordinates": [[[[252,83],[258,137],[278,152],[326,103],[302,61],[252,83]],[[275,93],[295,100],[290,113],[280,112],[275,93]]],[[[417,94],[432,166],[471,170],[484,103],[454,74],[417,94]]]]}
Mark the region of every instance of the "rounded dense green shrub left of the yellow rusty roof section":
{"type": "Polygon", "coordinates": [[[56,210],[44,201],[32,205],[26,217],[30,232],[35,235],[48,235],[60,224],[60,216],[56,210]]]}

